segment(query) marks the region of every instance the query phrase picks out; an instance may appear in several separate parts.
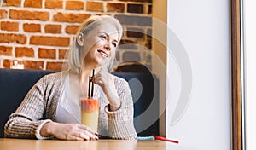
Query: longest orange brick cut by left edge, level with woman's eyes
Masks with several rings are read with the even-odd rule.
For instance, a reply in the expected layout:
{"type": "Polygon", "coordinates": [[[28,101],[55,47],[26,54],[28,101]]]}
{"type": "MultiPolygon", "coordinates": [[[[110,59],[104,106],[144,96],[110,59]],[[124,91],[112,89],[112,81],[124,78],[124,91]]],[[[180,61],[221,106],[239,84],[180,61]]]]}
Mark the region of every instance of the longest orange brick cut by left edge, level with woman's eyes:
{"type": "Polygon", "coordinates": [[[21,34],[0,33],[0,43],[26,43],[26,36],[21,34]]]}

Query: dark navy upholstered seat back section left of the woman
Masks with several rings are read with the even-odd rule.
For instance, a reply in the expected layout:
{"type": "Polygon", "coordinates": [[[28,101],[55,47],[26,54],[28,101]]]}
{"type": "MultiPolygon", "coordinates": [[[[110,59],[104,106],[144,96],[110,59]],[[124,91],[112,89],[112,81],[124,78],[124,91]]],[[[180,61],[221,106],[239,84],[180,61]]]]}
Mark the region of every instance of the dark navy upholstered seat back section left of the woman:
{"type": "Polygon", "coordinates": [[[14,113],[32,85],[49,71],[0,69],[0,137],[4,124],[14,113]]]}

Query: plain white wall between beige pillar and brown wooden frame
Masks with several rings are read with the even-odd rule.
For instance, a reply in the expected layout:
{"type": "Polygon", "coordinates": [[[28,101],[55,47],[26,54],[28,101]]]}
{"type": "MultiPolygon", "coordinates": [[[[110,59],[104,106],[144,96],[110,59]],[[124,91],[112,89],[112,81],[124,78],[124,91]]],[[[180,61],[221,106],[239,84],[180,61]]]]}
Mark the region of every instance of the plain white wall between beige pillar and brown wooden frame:
{"type": "MultiPolygon", "coordinates": [[[[168,0],[166,136],[197,150],[230,149],[229,0],[168,0]],[[182,76],[173,49],[174,32],[192,69],[192,93],[183,116],[171,124],[182,76]],[[170,38],[171,36],[171,38],[170,38]],[[170,51],[171,49],[171,51],[170,51]]],[[[187,74],[189,75],[189,74],[187,74]]],[[[186,76],[186,75],[185,75],[186,76]]]]}

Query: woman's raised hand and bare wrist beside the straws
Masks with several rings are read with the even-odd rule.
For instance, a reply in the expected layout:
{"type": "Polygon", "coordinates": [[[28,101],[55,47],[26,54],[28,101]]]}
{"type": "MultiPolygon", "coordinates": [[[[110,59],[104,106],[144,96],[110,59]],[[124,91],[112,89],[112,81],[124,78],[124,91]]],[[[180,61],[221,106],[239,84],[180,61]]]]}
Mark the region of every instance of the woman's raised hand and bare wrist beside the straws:
{"type": "Polygon", "coordinates": [[[121,102],[114,86],[112,75],[104,70],[100,70],[94,75],[92,81],[101,86],[103,92],[107,95],[110,104],[110,111],[117,110],[120,107],[121,102]]]}

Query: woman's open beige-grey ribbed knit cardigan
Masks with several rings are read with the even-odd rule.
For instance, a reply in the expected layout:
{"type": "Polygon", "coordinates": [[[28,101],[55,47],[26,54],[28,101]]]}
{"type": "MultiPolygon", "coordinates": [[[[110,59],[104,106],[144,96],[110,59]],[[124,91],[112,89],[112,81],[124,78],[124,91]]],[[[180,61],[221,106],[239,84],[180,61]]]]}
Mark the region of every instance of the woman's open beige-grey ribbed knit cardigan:
{"type": "MultiPolygon", "coordinates": [[[[56,108],[61,99],[63,81],[68,71],[52,73],[41,78],[29,90],[20,107],[12,113],[4,127],[6,137],[49,139],[40,135],[44,124],[55,121],[56,108]]],[[[100,138],[137,139],[133,125],[133,101],[129,84],[123,79],[114,77],[114,84],[121,101],[121,107],[109,111],[107,96],[100,92],[100,113],[98,133],[100,138]]]]}

